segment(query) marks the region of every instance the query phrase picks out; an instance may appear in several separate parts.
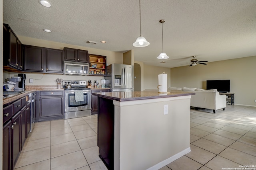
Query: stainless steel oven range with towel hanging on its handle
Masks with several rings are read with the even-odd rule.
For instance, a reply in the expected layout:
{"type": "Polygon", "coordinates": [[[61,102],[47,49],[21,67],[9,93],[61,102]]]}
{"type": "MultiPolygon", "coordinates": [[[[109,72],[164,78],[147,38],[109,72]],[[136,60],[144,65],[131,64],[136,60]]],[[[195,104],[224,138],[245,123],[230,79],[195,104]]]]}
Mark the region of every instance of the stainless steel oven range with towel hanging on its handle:
{"type": "Polygon", "coordinates": [[[91,90],[86,88],[86,80],[63,80],[63,82],[71,85],[71,88],[65,88],[64,91],[64,119],[91,115],[91,90]]]}

